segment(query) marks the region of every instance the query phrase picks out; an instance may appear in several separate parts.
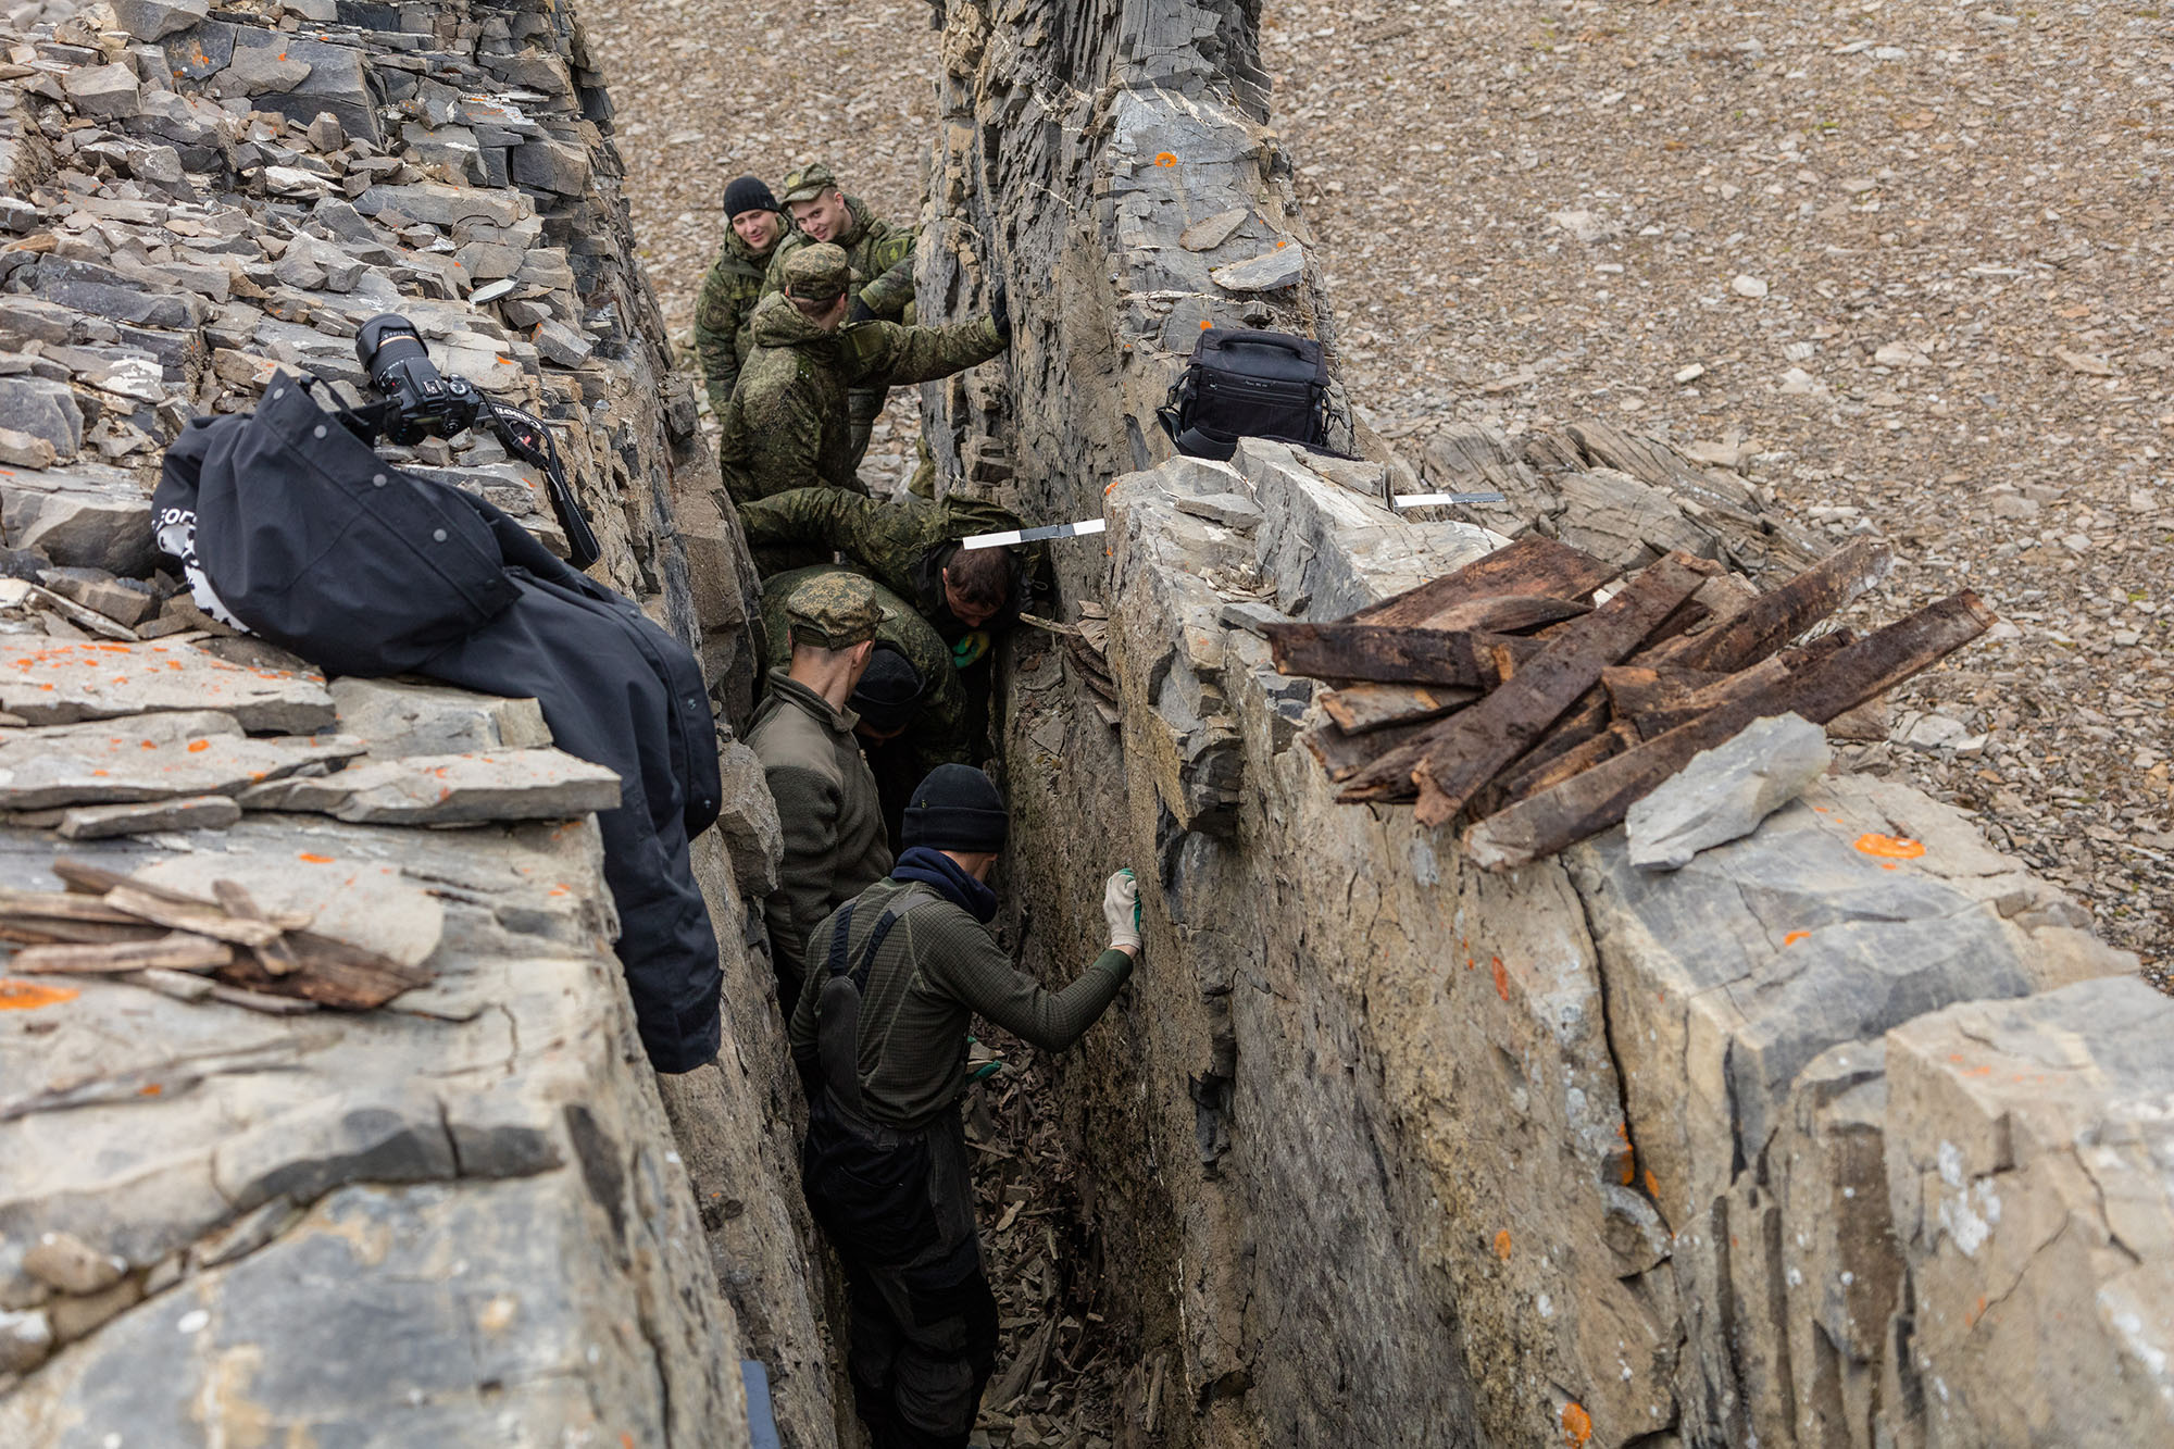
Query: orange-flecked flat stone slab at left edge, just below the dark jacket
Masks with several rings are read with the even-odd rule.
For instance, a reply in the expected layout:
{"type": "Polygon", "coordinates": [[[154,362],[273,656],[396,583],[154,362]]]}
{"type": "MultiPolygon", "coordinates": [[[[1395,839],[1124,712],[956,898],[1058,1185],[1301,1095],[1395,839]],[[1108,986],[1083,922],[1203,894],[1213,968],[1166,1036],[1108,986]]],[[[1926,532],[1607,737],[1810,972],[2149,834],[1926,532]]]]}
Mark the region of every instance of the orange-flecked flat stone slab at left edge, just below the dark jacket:
{"type": "Polygon", "coordinates": [[[0,809],[235,794],[361,753],[363,742],[352,735],[250,740],[230,714],[200,709],[7,729],[0,731],[0,809]]]}

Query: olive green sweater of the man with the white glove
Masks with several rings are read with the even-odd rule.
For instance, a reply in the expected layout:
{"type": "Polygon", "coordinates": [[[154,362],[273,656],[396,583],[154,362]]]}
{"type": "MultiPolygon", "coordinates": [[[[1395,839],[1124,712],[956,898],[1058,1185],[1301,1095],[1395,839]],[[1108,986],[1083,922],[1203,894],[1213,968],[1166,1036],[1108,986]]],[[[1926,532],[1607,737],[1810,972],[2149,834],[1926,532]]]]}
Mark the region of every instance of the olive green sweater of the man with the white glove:
{"type": "MultiPolygon", "coordinates": [[[[891,1127],[926,1127],[965,1092],[965,1033],[980,1014],[1044,1051],[1063,1051],[1087,1033],[1133,957],[1104,951],[1072,986],[1048,990],[1013,968],[989,927],[933,888],[883,879],[859,894],[846,936],[848,962],[865,949],[885,909],[902,912],[876,951],[861,992],[861,1101],[891,1127]]],[[[794,1060],[815,1062],[815,1010],[828,979],[833,912],[809,936],[807,990],[794,1010],[794,1060]]]]}

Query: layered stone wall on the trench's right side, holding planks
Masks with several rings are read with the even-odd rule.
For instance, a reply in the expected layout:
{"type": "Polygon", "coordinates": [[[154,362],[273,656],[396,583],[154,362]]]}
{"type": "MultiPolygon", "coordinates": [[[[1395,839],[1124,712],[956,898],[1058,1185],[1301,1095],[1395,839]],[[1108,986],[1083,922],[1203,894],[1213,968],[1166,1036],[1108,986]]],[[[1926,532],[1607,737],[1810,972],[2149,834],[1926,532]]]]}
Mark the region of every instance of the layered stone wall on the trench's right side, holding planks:
{"type": "Polygon", "coordinates": [[[1059,979],[1102,875],[1154,877],[1130,996],[1059,1066],[1133,1442],[2163,1438],[2167,1005],[2072,903],[1857,775],[1674,875],[1620,835],[1487,875],[1409,807],[1330,801],[1311,685],[1246,631],[1524,529],[1752,577],[1802,540],[1607,429],[1415,459],[1511,494],[1472,522],[1391,513],[1415,474],[1378,450],[1159,461],[1202,322],[1333,339],[1307,263],[1239,287],[1311,246],[1254,11],[946,22],[924,305],[1002,278],[1020,318],[1009,398],[930,389],[946,463],[1030,522],[1109,520],[1057,553],[1078,637],[1015,642],[1009,894],[1059,979]],[[1861,849],[1891,835],[1924,853],[1861,849]]]}

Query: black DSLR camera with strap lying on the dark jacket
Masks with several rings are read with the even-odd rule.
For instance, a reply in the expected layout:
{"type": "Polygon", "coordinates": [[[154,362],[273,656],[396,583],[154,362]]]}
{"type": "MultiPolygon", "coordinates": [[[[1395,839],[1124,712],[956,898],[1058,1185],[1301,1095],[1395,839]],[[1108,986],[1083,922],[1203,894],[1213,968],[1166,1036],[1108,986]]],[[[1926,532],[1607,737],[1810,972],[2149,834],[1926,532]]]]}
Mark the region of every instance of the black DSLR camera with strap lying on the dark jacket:
{"type": "Polygon", "coordinates": [[[465,376],[446,376],[430,361],[415,324],[396,311],[363,322],[354,335],[354,357],[370,374],[370,387],[383,403],[365,407],[357,420],[367,429],[363,442],[387,437],[409,448],[424,437],[452,437],[472,426],[487,426],[507,453],[544,470],[552,513],[565,531],[574,568],[589,568],[604,550],[589,529],[589,518],[574,500],[559,463],[559,444],[541,418],[483,396],[465,376]]]}

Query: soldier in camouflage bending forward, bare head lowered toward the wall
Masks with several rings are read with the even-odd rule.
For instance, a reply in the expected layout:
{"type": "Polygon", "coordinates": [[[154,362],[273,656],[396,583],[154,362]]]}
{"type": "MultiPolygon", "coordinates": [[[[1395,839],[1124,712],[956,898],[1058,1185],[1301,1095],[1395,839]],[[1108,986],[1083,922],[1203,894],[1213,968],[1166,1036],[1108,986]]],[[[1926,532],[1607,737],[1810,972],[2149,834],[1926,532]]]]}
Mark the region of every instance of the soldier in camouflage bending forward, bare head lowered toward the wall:
{"type": "Polygon", "coordinates": [[[837,487],[794,487],[739,509],[757,566],[807,548],[835,548],[846,561],[909,600],[946,644],[985,629],[1000,633],[1026,603],[1026,559],[1013,548],[961,550],[974,533],[1004,533],[1009,509],[952,494],[941,503],[876,503],[837,487]]]}

